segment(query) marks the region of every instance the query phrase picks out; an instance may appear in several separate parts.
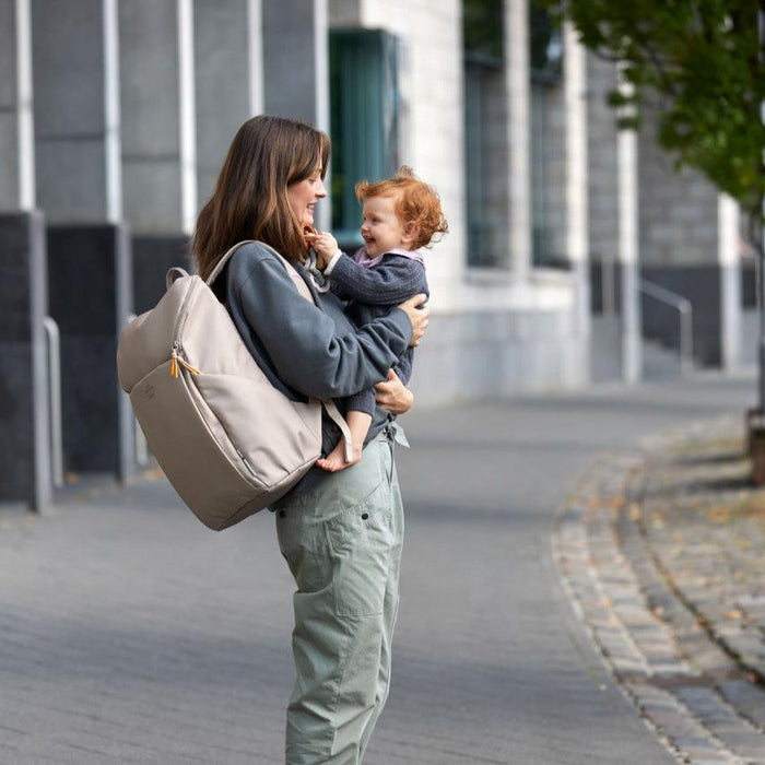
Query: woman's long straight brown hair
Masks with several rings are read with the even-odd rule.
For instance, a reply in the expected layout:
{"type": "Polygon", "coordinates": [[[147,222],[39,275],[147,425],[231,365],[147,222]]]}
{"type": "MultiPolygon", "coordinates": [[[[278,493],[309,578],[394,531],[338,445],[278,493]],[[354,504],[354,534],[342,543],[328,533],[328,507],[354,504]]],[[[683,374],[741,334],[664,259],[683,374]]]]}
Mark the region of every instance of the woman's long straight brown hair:
{"type": "Polygon", "coordinates": [[[284,256],[303,257],[303,232],[287,201],[291,184],[318,169],[323,178],[330,141],[309,125],[261,115],[232,141],[215,191],[197,217],[191,255],[207,279],[237,242],[259,239],[284,256]]]}

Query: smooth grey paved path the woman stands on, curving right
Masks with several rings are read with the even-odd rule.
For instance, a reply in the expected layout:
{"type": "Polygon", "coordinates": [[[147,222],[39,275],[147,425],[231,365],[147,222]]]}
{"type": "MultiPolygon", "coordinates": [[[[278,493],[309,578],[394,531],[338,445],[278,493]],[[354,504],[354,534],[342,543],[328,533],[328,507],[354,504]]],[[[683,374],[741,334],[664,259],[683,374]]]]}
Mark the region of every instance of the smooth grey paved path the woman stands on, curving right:
{"type": "MultiPolygon", "coordinates": [[[[408,415],[393,684],[367,765],[675,762],[551,539],[599,456],[753,396],[752,376],[699,377],[408,415]]],[[[281,762],[292,590],[269,515],[215,534],[161,480],[0,509],[0,763],[281,762]]]]}

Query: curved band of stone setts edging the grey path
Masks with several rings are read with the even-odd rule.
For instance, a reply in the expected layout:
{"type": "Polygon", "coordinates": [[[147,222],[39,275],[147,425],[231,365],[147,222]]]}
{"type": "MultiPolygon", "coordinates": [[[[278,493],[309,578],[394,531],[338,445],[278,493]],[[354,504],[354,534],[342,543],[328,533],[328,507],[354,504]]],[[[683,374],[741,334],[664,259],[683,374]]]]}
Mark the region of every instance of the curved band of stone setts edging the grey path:
{"type": "Polygon", "coordinates": [[[667,439],[649,449],[603,457],[576,484],[553,537],[564,590],[616,684],[679,762],[765,765],[765,691],[713,639],[647,544],[649,462],[667,439]]]}

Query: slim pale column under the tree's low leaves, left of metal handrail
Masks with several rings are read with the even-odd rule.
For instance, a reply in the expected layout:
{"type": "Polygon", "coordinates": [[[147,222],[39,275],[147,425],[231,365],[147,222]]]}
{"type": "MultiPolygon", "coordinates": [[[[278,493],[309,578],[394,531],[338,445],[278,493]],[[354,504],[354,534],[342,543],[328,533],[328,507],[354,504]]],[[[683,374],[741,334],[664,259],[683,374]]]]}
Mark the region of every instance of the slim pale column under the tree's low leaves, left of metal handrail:
{"type": "Polygon", "coordinates": [[[640,271],[638,236],[637,134],[620,130],[619,150],[619,262],[622,285],[622,377],[637,382],[643,369],[640,271]]]}

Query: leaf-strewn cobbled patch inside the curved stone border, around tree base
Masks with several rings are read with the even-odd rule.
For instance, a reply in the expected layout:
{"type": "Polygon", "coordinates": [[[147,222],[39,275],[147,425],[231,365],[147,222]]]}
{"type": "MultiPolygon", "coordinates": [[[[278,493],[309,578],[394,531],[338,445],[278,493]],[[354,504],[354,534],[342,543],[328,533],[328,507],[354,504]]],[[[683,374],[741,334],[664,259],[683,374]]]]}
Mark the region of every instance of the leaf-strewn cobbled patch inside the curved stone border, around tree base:
{"type": "MultiPolygon", "coordinates": [[[[681,431],[659,449],[640,530],[683,602],[765,688],[765,489],[751,484],[742,419],[681,431]]],[[[765,693],[762,705],[765,722],[765,693]]]]}

